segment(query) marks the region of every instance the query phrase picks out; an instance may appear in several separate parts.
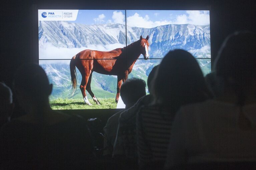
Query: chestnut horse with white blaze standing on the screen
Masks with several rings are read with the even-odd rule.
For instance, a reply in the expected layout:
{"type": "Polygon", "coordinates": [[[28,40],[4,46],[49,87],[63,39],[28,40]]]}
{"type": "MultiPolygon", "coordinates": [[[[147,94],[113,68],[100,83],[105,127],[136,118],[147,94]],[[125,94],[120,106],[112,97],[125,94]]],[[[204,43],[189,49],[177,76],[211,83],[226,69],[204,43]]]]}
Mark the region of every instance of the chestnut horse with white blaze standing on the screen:
{"type": "Polygon", "coordinates": [[[122,82],[127,80],[128,74],[132,72],[133,66],[137,59],[142,54],[144,59],[149,58],[149,36],[147,38],[140,37],[140,40],[128,45],[127,47],[117,48],[112,51],[96,51],[83,50],[72,57],[70,61],[70,74],[73,90],[76,89],[76,69],[82,75],[80,89],[83,95],[84,103],[91,105],[85,89],[93,98],[93,101],[100,104],[96,96],[91,91],[91,76],[92,72],[97,72],[104,75],[117,76],[117,91],[115,101],[118,101],[120,86],[122,82]]]}

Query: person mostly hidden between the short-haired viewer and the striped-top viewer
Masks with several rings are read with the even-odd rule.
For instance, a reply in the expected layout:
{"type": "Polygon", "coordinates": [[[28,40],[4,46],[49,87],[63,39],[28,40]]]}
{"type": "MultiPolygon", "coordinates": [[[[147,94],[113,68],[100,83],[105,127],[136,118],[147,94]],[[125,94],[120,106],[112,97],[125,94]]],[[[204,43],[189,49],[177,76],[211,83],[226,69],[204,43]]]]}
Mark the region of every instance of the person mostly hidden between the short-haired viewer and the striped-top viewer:
{"type": "Polygon", "coordinates": [[[113,147],[113,156],[125,156],[125,159],[138,162],[137,140],[136,140],[136,113],[142,105],[153,101],[151,94],[152,80],[157,71],[155,66],[148,76],[148,89],[150,94],[141,97],[132,107],[122,111],[118,120],[116,139],[113,147]]]}

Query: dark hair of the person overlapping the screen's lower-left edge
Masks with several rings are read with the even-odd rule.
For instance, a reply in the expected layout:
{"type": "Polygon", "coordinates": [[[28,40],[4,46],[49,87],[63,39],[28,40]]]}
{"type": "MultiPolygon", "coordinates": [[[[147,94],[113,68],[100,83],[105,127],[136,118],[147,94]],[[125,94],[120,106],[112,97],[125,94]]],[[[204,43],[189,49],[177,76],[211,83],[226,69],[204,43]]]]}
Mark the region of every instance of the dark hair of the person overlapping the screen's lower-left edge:
{"type": "Polygon", "coordinates": [[[15,90],[21,90],[34,98],[48,98],[49,81],[45,71],[37,64],[24,64],[14,76],[15,90]]]}

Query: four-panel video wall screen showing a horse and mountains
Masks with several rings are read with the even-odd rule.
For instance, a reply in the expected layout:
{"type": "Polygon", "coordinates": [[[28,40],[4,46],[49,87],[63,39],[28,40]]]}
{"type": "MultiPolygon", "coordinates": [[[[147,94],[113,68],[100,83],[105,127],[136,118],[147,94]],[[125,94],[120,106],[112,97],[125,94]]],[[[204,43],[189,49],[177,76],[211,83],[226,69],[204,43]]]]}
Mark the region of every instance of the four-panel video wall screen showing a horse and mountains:
{"type": "Polygon", "coordinates": [[[38,39],[53,109],[116,108],[117,100],[125,107],[116,95],[123,73],[147,83],[152,68],[174,49],[189,51],[204,75],[211,72],[209,11],[40,9],[38,39]],[[136,43],[141,36],[149,46],[136,43]]]}

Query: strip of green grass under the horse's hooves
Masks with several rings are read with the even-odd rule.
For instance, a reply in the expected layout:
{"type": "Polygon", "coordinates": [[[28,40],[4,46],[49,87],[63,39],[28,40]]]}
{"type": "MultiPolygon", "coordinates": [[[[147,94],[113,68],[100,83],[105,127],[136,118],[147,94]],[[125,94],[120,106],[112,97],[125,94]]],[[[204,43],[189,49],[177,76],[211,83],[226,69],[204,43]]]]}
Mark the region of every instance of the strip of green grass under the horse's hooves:
{"type": "Polygon", "coordinates": [[[105,108],[116,108],[117,103],[115,98],[98,98],[100,105],[96,104],[92,99],[89,99],[90,105],[85,105],[83,99],[68,99],[68,98],[57,98],[50,101],[51,108],[54,110],[65,110],[65,109],[105,109],[105,108]]]}

